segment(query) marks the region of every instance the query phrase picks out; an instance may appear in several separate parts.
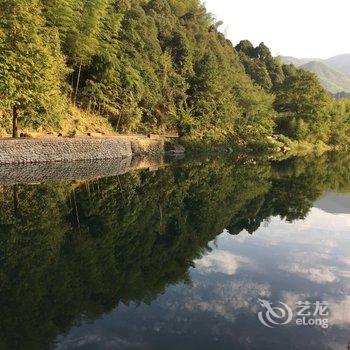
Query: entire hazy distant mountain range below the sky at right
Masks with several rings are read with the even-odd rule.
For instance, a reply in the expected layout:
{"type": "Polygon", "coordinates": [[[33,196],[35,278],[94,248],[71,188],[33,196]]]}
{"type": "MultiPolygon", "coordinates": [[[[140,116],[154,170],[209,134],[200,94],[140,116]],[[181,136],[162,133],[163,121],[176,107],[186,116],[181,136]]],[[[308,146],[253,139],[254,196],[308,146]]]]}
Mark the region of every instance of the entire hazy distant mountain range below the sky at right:
{"type": "Polygon", "coordinates": [[[316,73],[323,87],[332,94],[350,93],[350,54],[325,60],[292,56],[279,56],[279,58],[285,64],[294,64],[298,68],[316,73]]]}

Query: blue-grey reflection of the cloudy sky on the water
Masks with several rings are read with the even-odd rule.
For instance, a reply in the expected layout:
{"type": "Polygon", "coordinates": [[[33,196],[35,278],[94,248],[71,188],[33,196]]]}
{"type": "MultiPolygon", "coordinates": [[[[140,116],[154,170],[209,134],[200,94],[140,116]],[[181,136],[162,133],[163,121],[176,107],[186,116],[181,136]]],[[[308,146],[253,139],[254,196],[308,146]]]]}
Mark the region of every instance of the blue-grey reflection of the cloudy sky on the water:
{"type": "MultiPolygon", "coordinates": [[[[334,200],[334,195],[333,195],[334,200]]],[[[119,306],[75,327],[58,349],[346,349],[350,341],[350,215],[313,208],[304,221],[273,218],[249,235],[224,232],[195,261],[192,285],[152,305],[119,306]],[[330,328],[259,324],[258,298],[326,300],[330,328]]]]}

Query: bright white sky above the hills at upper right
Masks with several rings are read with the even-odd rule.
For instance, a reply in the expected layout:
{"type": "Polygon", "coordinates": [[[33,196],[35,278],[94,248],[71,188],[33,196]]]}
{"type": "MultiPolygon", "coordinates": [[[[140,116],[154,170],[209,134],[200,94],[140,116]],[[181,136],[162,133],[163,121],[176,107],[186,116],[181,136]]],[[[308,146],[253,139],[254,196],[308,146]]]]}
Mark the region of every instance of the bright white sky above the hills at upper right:
{"type": "Polygon", "coordinates": [[[264,42],[274,55],[350,53],[350,0],[203,0],[234,43],[264,42]]]}

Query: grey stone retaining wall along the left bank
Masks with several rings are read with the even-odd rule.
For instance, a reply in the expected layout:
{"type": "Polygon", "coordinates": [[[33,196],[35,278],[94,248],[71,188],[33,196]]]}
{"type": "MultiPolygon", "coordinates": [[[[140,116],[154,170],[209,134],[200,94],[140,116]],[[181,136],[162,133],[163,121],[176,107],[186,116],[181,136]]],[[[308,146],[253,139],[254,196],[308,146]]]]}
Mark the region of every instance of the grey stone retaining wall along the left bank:
{"type": "Polygon", "coordinates": [[[113,159],[162,152],[161,140],[127,136],[0,140],[0,164],[113,159]]]}

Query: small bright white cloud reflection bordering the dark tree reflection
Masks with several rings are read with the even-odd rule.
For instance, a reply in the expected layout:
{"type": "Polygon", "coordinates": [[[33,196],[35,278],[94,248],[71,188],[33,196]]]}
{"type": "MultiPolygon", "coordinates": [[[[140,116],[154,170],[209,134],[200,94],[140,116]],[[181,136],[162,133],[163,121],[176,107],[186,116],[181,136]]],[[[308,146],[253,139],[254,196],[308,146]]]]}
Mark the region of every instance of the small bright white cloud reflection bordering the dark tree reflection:
{"type": "Polygon", "coordinates": [[[239,265],[250,264],[250,261],[228,251],[216,249],[194,263],[201,273],[221,272],[234,275],[239,265]]]}

